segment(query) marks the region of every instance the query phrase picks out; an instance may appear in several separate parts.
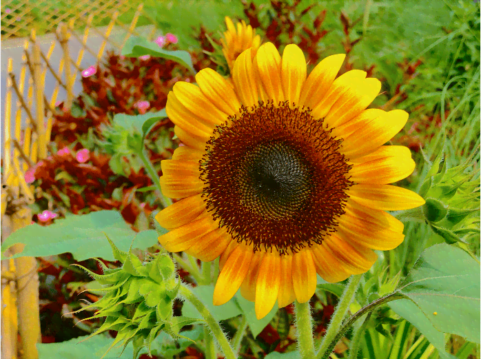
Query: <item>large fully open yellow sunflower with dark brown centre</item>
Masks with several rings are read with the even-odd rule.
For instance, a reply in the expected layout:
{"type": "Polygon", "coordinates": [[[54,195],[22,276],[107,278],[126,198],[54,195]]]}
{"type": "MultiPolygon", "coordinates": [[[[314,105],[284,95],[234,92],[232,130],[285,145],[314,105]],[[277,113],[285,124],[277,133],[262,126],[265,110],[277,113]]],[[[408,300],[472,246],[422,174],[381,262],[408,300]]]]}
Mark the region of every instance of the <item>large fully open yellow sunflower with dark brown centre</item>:
{"type": "Polygon", "coordinates": [[[218,258],[214,304],[241,289],[263,318],[278,302],[307,302],[316,273],[328,282],[367,271],[373,249],[402,243],[385,211],[424,200],[389,185],[415,164],[407,147],[384,145],[407,122],[401,110],[367,106],[380,81],[351,70],[344,54],[307,76],[303,52],[272,43],[236,59],[232,83],[211,69],[178,82],[167,115],[185,144],[162,161],[165,196],[182,198],[156,219],[170,252],[218,258]]]}

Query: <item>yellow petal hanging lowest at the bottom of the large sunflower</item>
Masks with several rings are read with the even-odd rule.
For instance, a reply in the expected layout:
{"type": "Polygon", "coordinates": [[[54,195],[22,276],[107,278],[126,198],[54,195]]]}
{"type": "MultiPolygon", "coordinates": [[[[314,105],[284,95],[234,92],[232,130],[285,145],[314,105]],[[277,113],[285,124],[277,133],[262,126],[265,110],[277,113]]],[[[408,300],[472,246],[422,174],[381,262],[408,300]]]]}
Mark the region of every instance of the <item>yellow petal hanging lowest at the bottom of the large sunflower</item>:
{"type": "Polygon", "coordinates": [[[276,304],[280,287],[280,256],[278,253],[265,254],[260,263],[256,285],[256,317],[262,319],[276,304]]]}

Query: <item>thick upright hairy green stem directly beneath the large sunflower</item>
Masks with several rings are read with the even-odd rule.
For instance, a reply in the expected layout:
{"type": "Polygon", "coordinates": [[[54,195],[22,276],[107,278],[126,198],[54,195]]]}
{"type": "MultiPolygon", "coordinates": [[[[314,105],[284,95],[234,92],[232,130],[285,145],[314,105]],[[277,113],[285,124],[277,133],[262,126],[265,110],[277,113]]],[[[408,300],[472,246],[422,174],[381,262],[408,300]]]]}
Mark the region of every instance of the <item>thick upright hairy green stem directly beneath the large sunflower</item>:
{"type": "Polygon", "coordinates": [[[312,336],[312,316],[309,301],[300,303],[296,300],[297,342],[303,359],[314,358],[314,338],[312,336]]]}

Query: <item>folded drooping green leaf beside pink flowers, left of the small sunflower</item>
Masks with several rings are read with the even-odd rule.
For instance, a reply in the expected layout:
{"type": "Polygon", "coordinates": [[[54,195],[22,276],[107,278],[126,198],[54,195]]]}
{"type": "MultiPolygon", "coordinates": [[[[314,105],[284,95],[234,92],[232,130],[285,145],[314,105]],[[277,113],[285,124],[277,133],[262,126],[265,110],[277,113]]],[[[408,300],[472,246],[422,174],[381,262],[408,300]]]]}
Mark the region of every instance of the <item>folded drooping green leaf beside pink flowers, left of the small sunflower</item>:
{"type": "Polygon", "coordinates": [[[140,57],[143,55],[162,57],[163,59],[178,62],[188,68],[192,74],[196,74],[189,52],[183,50],[163,50],[156,43],[149,42],[142,37],[130,37],[122,48],[122,54],[125,57],[140,57]]]}

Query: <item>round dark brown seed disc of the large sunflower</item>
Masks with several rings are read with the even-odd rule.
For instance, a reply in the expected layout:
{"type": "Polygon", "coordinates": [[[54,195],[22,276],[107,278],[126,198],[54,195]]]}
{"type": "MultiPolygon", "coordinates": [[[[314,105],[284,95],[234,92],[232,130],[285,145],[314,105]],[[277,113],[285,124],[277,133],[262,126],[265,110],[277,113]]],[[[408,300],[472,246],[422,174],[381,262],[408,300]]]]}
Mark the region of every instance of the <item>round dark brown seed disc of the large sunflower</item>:
{"type": "Polygon", "coordinates": [[[309,110],[245,107],[216,127],[201,161],[207,209],[238,241],[280,254],[335,232],[352,185],[340,139],[309,110]]]}

